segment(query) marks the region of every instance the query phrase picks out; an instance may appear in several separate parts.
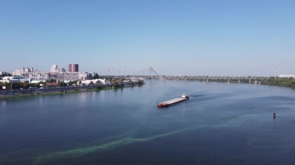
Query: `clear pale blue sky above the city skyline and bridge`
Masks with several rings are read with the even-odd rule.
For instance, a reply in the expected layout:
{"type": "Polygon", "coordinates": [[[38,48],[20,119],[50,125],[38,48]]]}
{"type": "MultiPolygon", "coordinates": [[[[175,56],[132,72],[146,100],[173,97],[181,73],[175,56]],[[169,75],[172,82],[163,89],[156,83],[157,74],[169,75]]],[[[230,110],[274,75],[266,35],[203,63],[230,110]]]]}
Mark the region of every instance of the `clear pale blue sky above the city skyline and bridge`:
{"type": "Polygon", "coordinates": [[[294,0],[0,0],[0,71],[273,76],[294,62],[294,0]]]}

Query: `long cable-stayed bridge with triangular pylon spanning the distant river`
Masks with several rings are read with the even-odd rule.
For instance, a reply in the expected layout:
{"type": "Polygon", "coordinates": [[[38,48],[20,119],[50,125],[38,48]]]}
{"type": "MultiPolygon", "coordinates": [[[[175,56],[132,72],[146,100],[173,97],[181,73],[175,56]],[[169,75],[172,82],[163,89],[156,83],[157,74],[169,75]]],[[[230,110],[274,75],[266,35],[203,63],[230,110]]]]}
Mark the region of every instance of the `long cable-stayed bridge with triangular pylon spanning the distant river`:
{"type": "Polygon", "coordinates": [[[270,77],[265,76],[171,76],[159,75],[152,67],[144,69],[140,72],[130,75],[135,78],[145,79],[162,79],[162,80],[201,80],[201,81],[237,81],[237,82],[251,82],[267,80],[270,77]]]}

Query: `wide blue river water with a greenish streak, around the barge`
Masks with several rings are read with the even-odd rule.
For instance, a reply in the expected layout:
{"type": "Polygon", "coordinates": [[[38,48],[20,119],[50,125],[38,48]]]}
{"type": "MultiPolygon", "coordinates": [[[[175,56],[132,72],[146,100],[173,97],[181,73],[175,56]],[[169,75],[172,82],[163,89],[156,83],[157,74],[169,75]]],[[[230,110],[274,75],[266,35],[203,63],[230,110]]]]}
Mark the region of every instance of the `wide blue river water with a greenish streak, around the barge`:
{"type": "Polygon", "coordinates": [[[294,125],[295,90],[247,83],[146,80],[7,98],[0,100],[0,164],[290,165],[294,125]],[[191,98],[157,108],[182,93],[191,98]]]}

